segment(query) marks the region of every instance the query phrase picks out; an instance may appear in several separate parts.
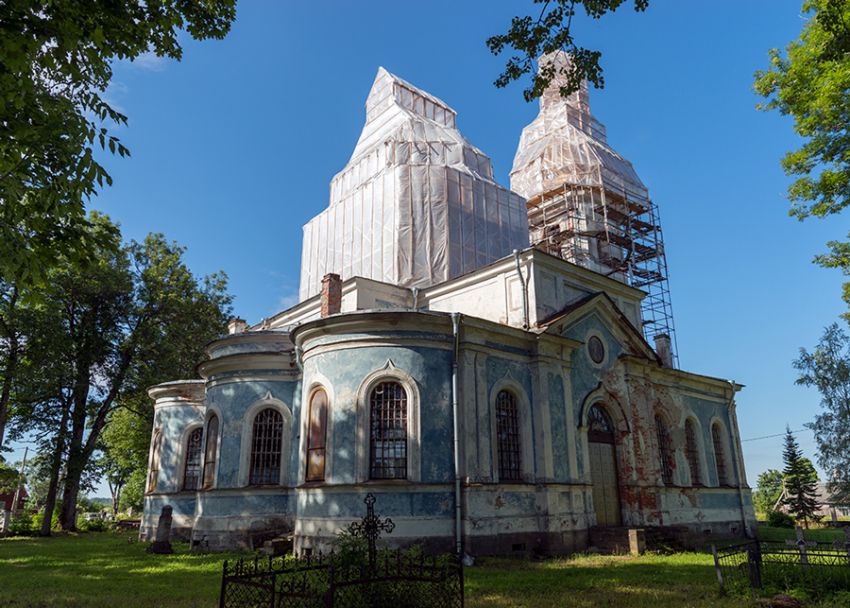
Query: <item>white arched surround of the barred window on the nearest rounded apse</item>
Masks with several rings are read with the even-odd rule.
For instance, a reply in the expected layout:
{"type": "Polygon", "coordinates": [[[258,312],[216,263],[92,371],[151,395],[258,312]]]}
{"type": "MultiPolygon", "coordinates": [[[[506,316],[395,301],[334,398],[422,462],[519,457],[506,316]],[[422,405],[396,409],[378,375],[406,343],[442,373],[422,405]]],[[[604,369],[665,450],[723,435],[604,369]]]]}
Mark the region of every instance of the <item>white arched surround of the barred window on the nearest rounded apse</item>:
{"type": "MultiPolygon", "coordinates": [[[[381,382],[398,382],[407,393],[407,481],[419,481],[420,444],[419,434],[419,387],[407,372],[398,369],[391,360],[386,365],[366,376],[357,389],[357,435],[355,480],[369,480],[369,416],[372,389],[381,382]]],[[[329,395],[330,397],[330,395],[329,395]]],[[[327,465],[326,465],[327,466],[327,465]]],[[[379,479],[374,483],[395,483],[396,480],[379,479]]]]}

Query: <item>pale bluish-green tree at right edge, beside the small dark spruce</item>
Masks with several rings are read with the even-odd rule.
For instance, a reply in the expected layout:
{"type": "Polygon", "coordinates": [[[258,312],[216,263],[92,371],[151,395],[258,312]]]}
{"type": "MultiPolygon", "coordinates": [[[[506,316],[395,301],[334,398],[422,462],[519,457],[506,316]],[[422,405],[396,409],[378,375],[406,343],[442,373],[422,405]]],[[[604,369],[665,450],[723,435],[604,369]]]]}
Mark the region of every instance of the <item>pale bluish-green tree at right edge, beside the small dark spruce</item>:
{"type": "Polygon", "coordinates": [[[794,367],[800,373],[797,384],[815,387],[821,395],[823,411],[806,426],[814,431],[829,492],[850,501],[850,336],[833,323],[813,352],[800,349],[794,367]]]}

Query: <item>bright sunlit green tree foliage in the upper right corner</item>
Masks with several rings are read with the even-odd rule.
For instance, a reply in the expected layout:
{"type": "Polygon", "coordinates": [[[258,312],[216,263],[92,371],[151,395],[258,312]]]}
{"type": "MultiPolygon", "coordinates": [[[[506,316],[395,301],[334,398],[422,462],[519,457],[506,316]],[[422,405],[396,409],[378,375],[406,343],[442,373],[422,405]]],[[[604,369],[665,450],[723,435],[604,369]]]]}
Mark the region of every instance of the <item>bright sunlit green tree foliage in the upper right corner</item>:
{"type": "MultiPolygon", "coordinates": [[[[850,204],[850,2],[806,0],[810,18],[800,37],[781,53],[770,51],[770,68],[756,72],[763,110],[794,119],[803,144],[782,159],[795,178],[788,189],[790,214],[799,220],[827,217],[850,204]]],[[[832,241],[815,261],[850,275],[850,243],[832,241]]],[[[850,305],[850,285],[844,286],[850,305]]]]}

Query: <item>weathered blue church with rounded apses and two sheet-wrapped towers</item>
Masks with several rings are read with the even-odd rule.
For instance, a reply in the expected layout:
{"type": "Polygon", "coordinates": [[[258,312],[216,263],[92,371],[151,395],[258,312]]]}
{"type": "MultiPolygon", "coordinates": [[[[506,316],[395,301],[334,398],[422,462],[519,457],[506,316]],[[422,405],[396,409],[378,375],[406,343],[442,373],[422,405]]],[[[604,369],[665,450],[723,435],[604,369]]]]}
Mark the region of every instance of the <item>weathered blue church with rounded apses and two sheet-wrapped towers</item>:
{"type": "Polygon", "coordinates": [[[558,86],[508,189],[454,110],[378,70],[300,302],[150,389],[143,540],[168,505],[196,546],[326,550],[367,493],[384,540],[471,555],[752,533],[742,386],[677,369],[657,209],[558,86]]]}

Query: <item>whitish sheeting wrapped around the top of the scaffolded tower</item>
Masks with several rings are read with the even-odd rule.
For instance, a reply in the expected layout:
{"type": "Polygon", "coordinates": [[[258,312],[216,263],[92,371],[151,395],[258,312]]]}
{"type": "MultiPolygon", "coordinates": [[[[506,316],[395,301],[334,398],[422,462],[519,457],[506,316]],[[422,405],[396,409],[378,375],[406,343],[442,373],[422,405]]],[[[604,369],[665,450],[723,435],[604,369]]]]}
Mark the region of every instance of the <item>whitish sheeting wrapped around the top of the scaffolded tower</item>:
{"type": "MultiPolygon", "coordinates": [[[[556,51],[540,58],[556,69],[569,67],[569,55],[556,51]]],[[[511,169],[511,189],[533,201],[565,184],[604,186],[637,198],[648,198],[632,164],[609,145],[605,127],[590,113],[587,82],[567,99],[561,97],[563,76],[556,71],[540,97],[540,113],[522,130],[511,169]]]]}

